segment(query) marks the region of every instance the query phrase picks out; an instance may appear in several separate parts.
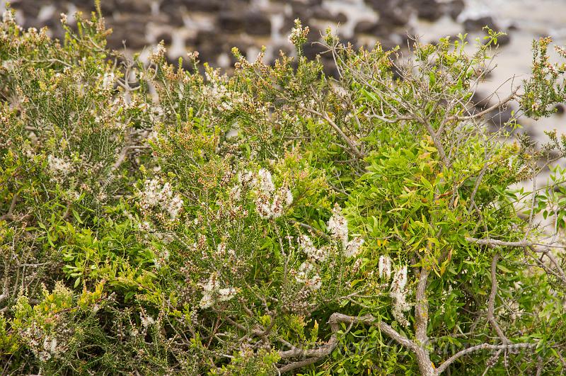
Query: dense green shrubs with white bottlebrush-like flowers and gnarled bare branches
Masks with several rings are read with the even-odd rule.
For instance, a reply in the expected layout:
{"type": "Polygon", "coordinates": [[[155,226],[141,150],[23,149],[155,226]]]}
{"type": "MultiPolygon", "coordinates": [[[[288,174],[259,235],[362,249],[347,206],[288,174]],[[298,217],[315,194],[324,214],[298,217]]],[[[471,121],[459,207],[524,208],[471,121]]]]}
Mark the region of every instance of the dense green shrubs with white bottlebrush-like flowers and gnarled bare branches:
{"type": "Polygon", "coordinates": [[[296,57],[234,50],[231,76],[62,23],[0,25],[0,373],[565,370],[565,170],[516,183],[566,139],[507,134],[565,100],[550,40],[478,112],[498,33],[402,57],[329,33],[332,79],[298,21],[296,57]]]}

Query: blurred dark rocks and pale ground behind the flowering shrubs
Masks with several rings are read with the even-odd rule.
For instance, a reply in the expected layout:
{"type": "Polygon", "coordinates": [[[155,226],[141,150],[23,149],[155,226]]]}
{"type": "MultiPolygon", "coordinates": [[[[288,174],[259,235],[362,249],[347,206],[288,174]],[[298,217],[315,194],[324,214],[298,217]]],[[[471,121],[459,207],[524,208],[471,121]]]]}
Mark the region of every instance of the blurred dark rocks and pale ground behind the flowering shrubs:
{"type": "MultiPolygon", "coordinates": [[[[1,8],[6,1],[0,0],[1,8]]],[[[49,26],[54,37],[62,37],[60,13],[94,10],[93,0],[12,0],[16,18],[25,28],[49,26]]],[[[566,44],[565,0],[102,0],[103,15],[112,28],[109,45],[116,50],[141,51],[163,40],[171,62],[198,51],[202,62],[229,68],[234,62],[231,48],[238,47],[248,59],[267,47],[265,59],[272,62],[279,50],[291,52],[287,40],[295,18],[311,28],[311,41],[318,40],[328,26],[353,45],[385,47],[406,45],[407,35],[420,35],[424,42],[446,35],[469,33],[483,36],[483,26],[509,32],[499,38],[497,69],[476,94],[485,107],[497,103],[497,93],[506,96],[512,83],[529,73],[533,38],[550,35],[566,44]],[[515,75],[515,76],[513,76],[515,75]],[[513,78],[514,77],[514,78],[513,78]],[[488,94],[496,92],[495,96],[488,94]]],[[[314,57],[320,45],[308,43],[305,53],[314,57]]],[[[331,57],[323,57],[328,74],[334,73],[331,57]]],[[[493,125],[509,119],[512,107],[493,114],[493,125]]],[[[566,132],[560,106],[557,115],[537,123],[525,120],[526,132],[543,140],[544,130],[566,132]]]]}

